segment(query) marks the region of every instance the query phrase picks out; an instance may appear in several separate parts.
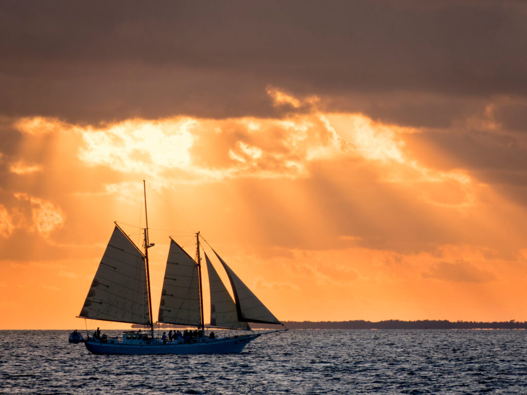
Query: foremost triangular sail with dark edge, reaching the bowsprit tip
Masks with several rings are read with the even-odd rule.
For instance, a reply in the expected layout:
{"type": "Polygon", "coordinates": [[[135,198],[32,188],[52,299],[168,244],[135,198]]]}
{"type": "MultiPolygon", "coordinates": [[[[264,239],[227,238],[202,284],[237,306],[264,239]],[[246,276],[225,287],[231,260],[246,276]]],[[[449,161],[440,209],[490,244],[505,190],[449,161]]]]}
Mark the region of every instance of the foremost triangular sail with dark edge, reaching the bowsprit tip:
{"type": "Polygon", "coordinates": [[[229,276],[232,292],[234,293],[234,298],[236,300],[238,321],[280,324],[281,322],[278,321],[269,309],[265,307],[264,303],[260,302],[256,295],[247,288],[247,285],[245,285],[235,272],[227,266],[227,263],[220,258],[216,251],[214,251],[214,254],[216,254],[229,276]]]}

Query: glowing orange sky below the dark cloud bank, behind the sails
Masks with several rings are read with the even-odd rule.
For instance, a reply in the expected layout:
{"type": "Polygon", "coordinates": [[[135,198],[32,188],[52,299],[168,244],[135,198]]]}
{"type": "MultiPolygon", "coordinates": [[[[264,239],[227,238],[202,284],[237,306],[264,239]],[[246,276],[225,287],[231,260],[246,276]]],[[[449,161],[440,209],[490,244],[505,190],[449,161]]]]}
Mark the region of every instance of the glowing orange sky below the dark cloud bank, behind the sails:
{"type": "Polygon", "coordinates": [[[84,326],[75,315],[113,221],[140,243],[128,224],[144,225],[143,177],[154,316],[168,235],[193,255],[199,230],[281,320],[527,319],[525,206],[445,170],[448,152],[419,128],[268,94],[309,110],[9,121],[19,140],[0,157],[0,328],[84,326]]]}

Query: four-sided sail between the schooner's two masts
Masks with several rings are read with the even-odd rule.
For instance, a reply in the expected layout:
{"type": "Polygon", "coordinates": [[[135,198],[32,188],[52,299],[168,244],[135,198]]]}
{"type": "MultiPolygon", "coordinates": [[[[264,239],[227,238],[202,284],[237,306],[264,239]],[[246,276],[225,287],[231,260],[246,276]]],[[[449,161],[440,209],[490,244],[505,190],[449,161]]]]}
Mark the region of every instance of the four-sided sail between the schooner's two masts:
{"type": "Polygon", "coordinates": [[[201,324],[198,265],[178,243],[170,240],[158,321],[198,326],[201,324]]]}

